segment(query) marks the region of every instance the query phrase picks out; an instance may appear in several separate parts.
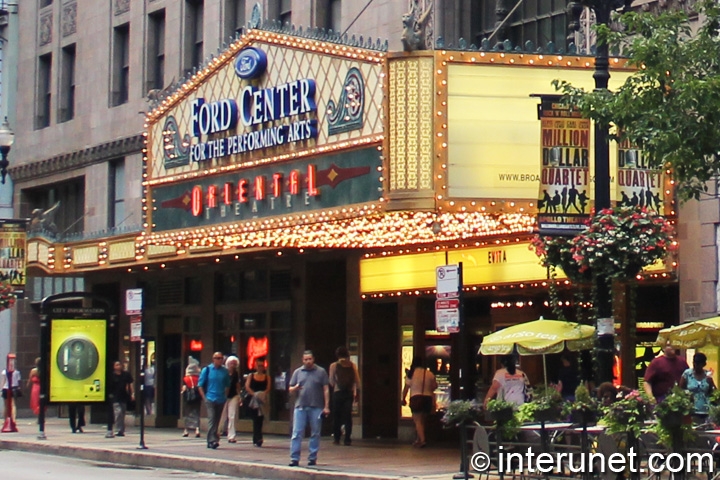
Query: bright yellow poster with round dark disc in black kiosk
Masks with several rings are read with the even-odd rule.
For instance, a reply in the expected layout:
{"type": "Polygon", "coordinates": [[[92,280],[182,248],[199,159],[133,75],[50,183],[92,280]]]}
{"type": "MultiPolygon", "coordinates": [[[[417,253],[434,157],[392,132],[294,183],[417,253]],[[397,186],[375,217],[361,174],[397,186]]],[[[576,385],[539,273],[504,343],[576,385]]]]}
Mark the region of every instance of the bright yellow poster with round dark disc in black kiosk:
{"type": "Polygon", "coordinates": [[[50,327],[50,403],[104,402],[107,321],[53,319],[50,327]]]}

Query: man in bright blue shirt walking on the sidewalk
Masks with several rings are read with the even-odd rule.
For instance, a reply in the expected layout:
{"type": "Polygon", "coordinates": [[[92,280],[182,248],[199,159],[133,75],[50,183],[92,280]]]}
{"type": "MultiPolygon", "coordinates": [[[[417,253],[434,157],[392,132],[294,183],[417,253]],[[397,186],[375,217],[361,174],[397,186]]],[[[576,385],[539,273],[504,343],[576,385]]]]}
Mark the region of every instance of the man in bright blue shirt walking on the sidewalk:
{"type": "Polygon", "coordinates": [[[208,448],[213,449],[220,446],[218,426],[230,390],[230,373],[223,365],[223,359],[222,352],[213,353],[212,364],[202,369],[198,380],[198,391],[208,412],[208,448]]]}

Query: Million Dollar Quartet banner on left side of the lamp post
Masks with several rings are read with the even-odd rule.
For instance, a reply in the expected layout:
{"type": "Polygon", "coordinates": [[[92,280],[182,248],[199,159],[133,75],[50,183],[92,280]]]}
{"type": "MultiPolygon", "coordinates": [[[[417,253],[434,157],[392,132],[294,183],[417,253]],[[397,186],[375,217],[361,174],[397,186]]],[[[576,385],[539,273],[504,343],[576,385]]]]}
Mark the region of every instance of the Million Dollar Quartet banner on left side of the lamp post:
{"type": "Polygon", "coordinates": [[[576,235],[590,214],[590,120],[543,96],[538,226],[541,235],[576,235]]]}

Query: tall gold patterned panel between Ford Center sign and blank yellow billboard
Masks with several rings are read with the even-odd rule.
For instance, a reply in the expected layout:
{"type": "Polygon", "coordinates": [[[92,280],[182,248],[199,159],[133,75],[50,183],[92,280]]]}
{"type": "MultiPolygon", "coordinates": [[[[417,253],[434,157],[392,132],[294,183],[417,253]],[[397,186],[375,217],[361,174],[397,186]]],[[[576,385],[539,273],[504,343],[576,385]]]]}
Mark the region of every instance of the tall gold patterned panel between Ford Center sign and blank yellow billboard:
{"type": "Polygon", "coordinates": [[[432,188],[433,59],[390,62],[390,191],[432,188]]]}

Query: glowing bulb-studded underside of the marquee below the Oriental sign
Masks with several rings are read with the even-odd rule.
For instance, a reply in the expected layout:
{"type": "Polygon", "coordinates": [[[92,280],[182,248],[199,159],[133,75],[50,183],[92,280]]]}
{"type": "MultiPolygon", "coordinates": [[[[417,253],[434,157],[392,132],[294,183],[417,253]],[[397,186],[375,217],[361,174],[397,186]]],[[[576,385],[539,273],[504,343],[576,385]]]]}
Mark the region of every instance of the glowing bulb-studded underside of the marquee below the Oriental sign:
{"type": "Polygon", "coordinates": [[[222,248],[386,248],[408,243],[459,241],[530,234],[531,215],[382,212],[379,205],[320,211],[262,221],[149,234],[145,245],[222,248]],[[343,218],[344,217],[344,218],[343,218]],[[433,228],[433,226],[435,228],[433,228]],[[436,234],[437,225],[440,230],[436,234]]]}

